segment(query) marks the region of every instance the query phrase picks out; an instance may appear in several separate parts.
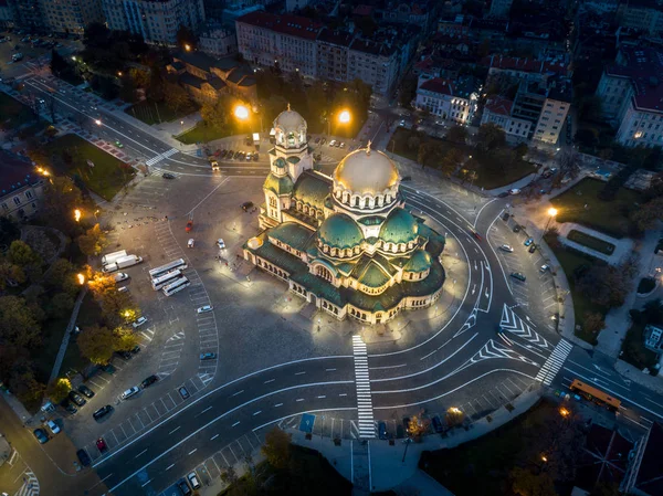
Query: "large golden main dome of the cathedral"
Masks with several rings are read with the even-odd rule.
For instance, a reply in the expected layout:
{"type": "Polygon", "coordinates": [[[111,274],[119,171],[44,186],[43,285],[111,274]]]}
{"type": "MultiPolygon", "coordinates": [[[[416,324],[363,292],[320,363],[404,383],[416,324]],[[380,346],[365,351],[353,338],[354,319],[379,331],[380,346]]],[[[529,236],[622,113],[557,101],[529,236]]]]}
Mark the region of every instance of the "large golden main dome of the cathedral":
{"type": "Polygon", "coordinates": [[[334,181],[358,194],[380,193],[398,184],[398,180],[396,163],[370,148],[346,155],[334,170],[334,181]]]}

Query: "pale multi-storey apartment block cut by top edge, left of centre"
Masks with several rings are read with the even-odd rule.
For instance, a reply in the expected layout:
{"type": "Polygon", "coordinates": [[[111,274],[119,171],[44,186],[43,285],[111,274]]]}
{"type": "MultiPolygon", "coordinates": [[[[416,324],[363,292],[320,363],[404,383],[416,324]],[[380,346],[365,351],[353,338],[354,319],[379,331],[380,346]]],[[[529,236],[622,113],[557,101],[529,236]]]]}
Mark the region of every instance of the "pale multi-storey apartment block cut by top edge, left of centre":
{"type": "Polygon", "coordinates": [[[141,34],[147,43],[175,45],[180,25],[193,32],[203,25],[202,1],[103,0],[103,10],[112,30],[141,34]]]}

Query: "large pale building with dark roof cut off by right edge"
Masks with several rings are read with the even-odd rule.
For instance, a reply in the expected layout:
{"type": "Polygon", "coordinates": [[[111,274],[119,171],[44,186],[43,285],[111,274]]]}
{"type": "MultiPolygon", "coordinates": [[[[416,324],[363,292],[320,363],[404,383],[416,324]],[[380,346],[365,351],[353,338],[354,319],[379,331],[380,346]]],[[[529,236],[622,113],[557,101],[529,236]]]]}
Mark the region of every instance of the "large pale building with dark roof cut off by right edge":
{"type": "Polygon", "coordinates": [[[663,51],[622,46],[597,88],[604,117],[625,146],[663,146],[663,51]]]}

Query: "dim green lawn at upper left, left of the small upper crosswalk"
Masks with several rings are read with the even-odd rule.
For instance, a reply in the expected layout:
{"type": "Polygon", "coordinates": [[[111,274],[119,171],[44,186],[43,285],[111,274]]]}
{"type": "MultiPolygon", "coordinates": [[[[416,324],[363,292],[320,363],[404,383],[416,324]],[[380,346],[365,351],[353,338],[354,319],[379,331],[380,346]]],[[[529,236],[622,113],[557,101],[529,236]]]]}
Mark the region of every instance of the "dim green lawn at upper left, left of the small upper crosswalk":
{"type": "Polygon", "coordinates": [[[44,147],[44,151],[51,157],[51,166],[55,170],[67,176],[78,175],[90,190],[108,201],[136,173],[127,163],[76,135],[65,135],[51,141],[44,147]],[[72,158],[71,163],[62,158],[63,151],[72,158]],[[87,160],[94,167],[90,167],[87,160]]]}

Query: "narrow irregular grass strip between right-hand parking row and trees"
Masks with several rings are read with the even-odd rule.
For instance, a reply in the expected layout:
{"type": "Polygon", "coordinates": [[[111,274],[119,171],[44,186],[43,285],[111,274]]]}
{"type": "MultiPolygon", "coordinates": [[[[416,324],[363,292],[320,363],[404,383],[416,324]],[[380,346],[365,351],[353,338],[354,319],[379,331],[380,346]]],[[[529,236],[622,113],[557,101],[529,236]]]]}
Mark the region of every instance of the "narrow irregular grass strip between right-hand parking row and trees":
{"type": "Polygon", "coordinates": [[[596,345],[598,342],[597,335],[583,330],[585,315],[588,313],[600,313],[602,315],[606,315],[608,313],[608,309],[600,305],[591,303],[585,293],[577,292],[576,279],[573,276],[576,270],[578,270],[582,265],[591,265],[596,262],[596,258],[592,258],[591,256],[586,254],[580,254],[578,252],[567,250],[564,246],[557,246],[556,243],[552,240],[550,240],[549,234],[546,235],[546,242],[548,243],[552,252],[555,252],[555,256],[557,256],[561,270],[566,274],[567,281],[569,282],[569,287],[571,289],[571,298],[573,300],[573,316],[576,319],[576,326],[581,327],[581,330],[575,330],[575,334],[577,337],[589,342],[590,345],[596,345]]]}

